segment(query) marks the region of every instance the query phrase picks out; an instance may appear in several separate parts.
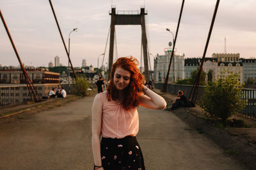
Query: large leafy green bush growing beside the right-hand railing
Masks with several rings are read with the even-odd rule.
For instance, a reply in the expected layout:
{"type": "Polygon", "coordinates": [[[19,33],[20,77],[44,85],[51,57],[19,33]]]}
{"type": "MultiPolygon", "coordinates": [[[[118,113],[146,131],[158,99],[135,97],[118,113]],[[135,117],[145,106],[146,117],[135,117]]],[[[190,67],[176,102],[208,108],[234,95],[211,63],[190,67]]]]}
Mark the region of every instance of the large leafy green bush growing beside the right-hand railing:
{"type": "Polygon", "coordinates": [[[218,78],[205,88],[200,99],[200,107],[212,117],[220,118],[225,127],[227,118],[241,111],[245,106],[242,88],[243,85],[237,80],[237,74],[218,78]]]}

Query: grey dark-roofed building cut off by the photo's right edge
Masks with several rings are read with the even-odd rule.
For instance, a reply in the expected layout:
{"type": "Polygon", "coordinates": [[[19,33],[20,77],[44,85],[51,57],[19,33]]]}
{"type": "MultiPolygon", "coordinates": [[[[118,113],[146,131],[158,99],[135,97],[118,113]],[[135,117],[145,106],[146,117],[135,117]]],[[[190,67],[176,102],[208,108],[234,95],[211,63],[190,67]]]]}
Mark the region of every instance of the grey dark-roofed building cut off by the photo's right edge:
{"type": "Polygon", "coordinates": [[[256,81],[256,58],[240,59],[243,63],[243,82],[247,83],[248,78],[256,81]]]}

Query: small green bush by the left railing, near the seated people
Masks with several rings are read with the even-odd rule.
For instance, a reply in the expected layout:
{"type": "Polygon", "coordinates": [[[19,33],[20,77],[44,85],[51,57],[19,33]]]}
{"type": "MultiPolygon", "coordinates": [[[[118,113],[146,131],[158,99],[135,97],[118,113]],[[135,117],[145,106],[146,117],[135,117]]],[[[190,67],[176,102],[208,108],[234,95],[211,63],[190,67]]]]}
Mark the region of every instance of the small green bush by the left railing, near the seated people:
{"type": "Polygon", "coordinates": [[[83,97],[88,96],[88,92],[87,92],[88,88],[89,88],[89,85],[88,85],[88,82],[86,81],[86,78],[82,76],[77,76],[75,94],[83,97]]]}

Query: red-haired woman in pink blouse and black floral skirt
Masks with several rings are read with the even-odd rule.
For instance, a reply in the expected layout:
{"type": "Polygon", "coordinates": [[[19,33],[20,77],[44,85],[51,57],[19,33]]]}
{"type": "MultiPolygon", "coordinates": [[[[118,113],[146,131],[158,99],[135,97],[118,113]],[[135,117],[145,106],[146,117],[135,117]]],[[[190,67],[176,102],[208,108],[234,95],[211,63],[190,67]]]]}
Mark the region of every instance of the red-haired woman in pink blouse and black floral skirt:
{"type": "Polygon", "coordinates": [[[163,97],[143,85],[138,60],[121,57],[111,69],[108,90],[92,106],[94,169],[145,169],[138,133],[138,105],[163,109],[163,97]],[[100,142],[100,136],[102,140],[100,142]]]}

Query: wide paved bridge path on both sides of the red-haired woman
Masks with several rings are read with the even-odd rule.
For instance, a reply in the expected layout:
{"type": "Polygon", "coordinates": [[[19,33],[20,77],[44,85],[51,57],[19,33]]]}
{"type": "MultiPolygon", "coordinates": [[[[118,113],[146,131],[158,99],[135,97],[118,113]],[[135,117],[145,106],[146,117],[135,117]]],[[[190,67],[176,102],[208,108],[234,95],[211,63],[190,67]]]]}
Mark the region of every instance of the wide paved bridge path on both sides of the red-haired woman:
{"type": "MultiPolygon", "coordinates": [[[[0,169],[92,169],[93,97],[0,125],[0,169]]],[[[138,108],[147,169],[243,169],[170,111],[138,108]]]]}

